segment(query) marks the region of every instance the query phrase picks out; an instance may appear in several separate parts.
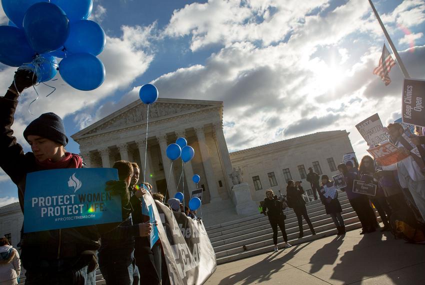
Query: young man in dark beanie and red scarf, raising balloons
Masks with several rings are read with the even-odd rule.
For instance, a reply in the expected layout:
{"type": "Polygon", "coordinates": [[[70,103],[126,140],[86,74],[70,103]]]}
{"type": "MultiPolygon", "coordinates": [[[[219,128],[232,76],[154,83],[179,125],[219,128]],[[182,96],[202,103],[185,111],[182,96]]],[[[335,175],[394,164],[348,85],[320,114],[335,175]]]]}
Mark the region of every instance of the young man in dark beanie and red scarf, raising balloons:
{"type": "MultiPolygon", "coordinates": [[[[6,94],[0,97],[0,167],[17,185],[19,204],[23,212],[25,179],[29,172],[80,168],[82,159],[65,152],[68,142],[62,119],[55,113],[44,113],[34,119],[23,131],[32,152],[24,153],[22,146],[12,135],[11,125],[17,106],[17,98],[24,88],[36,80],[31,71],[16,71],[14,82],[6,94]]],[[[119,181],[108,181],[106,190],[119,189],[119,181]]],[[[122,217],[131,210],[128,198],[121,195],[122,217]]],[[[21,260],[26,269],[26,284],[95,284],[96,250],[100,246],[99,235],[117,224],[91,225],[22,234],[21,260]]]]}

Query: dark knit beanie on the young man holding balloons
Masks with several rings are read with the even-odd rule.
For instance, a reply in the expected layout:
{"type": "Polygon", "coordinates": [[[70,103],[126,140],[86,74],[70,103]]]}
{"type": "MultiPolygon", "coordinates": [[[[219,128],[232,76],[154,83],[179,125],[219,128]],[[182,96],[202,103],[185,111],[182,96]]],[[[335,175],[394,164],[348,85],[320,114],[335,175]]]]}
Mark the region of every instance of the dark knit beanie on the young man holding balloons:
{"type": "Polygon", "coordinates": [[[62,119],[55,113],[44,113],[31,121],[23,131],[23,137],[28,141],[28,135],[39,135],[61,145],[68,143],[62,119]]]}

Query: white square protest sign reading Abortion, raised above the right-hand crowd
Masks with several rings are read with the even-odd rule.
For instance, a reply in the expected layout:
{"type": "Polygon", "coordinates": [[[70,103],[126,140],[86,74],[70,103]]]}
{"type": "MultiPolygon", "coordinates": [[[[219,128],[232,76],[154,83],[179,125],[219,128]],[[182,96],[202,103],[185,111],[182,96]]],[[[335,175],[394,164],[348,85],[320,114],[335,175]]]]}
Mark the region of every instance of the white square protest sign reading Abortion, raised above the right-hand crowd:
{"type": "Polygon", "coordinates": [[[388,139],[377,113],[357,123],[355,127],[369,146],[374,146],[388,139]]]}

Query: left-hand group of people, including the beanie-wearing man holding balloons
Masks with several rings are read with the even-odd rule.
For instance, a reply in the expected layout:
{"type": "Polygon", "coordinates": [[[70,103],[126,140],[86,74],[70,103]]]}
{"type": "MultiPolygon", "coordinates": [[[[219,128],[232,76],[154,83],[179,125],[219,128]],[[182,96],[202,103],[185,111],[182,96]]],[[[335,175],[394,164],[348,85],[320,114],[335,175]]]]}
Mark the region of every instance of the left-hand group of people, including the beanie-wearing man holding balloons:
{"type": "MultiPolygon", "coordinates": [[[[36,82],[28,70],[15,72],[14,80],[0,97],[0,167],[10,176],[18,190],[19,204],[24,209],[26,174],[38,170],[84,167],[82,158],[67,152],[68,138],[62,119],[55,113],[44,113],[23,131],[31,147],[24,153],[11,128],[20,93],[36,82]]],[[[152,222],[144,210],[143,195],[151,192],[147,182],[137,184],[139,167],[135,162],[116,161],[118,180],[106,182],[105,190],[119,195],[123,222],[70,227],[55,230],[21,231],[20,260],[25,269],[25,284],[95,284],[97,266],[106,284],[168,284],[167,266],[158,240],[150,246],[152,222]]],[[[160,193],[152,197],[164,202],[160,193]]],[[[178,199],[171,198],[170,211],[185,212],[196,218],[196,212],[184,209],[178,199]]],[[[25,221],[24,221],[25,222],[25,221]]],[[[6,272],[4,284],[19,280],[19,254],[7,239],[0,238],[0,270],[6,272]]],[[[2,283],[3,284],[3,283],[2,283]]]]}

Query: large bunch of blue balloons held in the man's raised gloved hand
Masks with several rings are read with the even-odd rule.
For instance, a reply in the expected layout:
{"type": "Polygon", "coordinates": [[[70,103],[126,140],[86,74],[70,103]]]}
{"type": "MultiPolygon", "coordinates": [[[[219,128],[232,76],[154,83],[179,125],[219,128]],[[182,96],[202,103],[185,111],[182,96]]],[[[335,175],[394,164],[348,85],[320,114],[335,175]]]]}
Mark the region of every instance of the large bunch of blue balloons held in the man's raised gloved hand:
{"type": "Polygon", "coordinates": [[[92,0],[1,0],[9,24],[0,26],[0,62],[31,68],[38,82],[57,69],[79,90],[103,83],[105,68],[96,57],[106,38],[103,29],[87,20],[92,0]],[[59,63],[55,57],[63,58],[59,63]]]}

